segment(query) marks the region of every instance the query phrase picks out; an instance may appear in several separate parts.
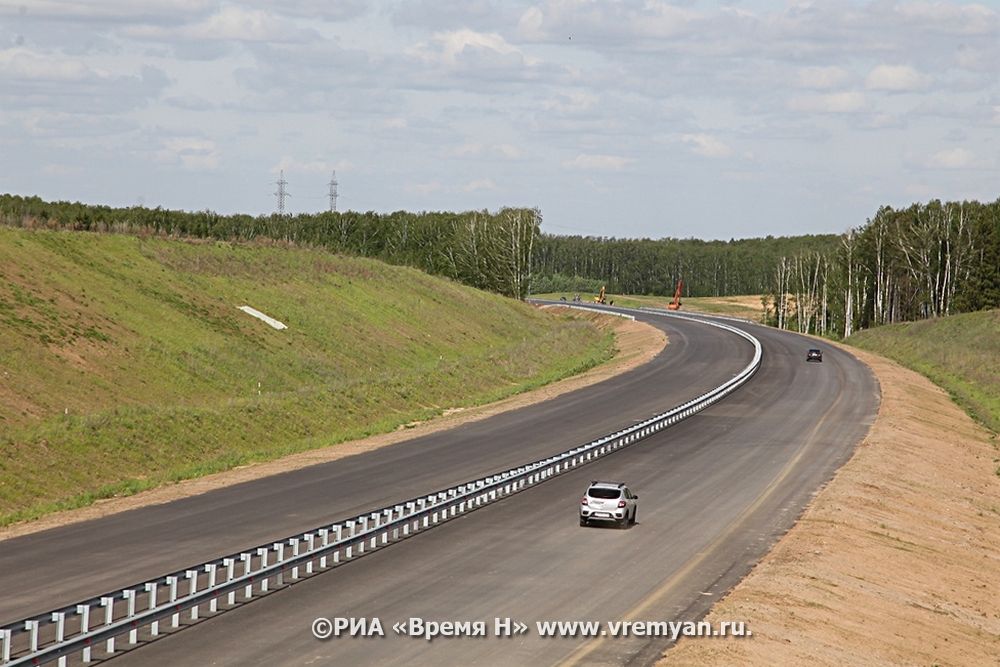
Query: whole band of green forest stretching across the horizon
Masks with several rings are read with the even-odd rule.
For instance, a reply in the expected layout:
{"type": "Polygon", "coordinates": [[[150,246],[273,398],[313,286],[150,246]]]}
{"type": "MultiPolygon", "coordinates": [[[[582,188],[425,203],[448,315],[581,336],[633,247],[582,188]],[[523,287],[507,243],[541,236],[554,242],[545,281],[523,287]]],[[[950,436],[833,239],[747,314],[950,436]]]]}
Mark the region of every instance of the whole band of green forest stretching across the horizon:
{"type": "Polygon", "coordinates": [[[616,239],[541,233],[538,209],[295,216],[112,208],[0,195],[0,224],[223,240],[268,239],[406,264],[523,299],[532,293],[761,295],[768,324],[849,336],[1000,307],[1000,199],[883,206],[825,235],[616,239]]]}

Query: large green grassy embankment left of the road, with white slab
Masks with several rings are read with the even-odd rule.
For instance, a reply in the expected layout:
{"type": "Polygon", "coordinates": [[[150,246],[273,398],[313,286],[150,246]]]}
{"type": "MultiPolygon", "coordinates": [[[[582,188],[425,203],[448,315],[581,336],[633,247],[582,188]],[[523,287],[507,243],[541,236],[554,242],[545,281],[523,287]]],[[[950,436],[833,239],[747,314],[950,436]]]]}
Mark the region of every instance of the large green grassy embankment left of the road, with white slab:
{"type": "Polygon", "coordinates": [[[613,354],[579,319],[372,260],[3,228],[0,341],[0,525],[390,431],[613,354]]]}

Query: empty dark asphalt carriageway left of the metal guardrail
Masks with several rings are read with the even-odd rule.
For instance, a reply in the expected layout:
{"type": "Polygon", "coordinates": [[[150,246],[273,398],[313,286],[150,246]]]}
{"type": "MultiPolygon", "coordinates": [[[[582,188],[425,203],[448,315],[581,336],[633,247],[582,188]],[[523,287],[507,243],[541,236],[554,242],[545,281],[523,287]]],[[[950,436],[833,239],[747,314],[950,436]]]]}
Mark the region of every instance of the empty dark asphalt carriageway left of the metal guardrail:
{"type": "Polygon", "coordinates": [[[670,345],[651,363],[536,406],[0,542],[0,624],[569,449],[719,384],[751,354],[749,343],[713,328],[662,326],[670,345]]]}

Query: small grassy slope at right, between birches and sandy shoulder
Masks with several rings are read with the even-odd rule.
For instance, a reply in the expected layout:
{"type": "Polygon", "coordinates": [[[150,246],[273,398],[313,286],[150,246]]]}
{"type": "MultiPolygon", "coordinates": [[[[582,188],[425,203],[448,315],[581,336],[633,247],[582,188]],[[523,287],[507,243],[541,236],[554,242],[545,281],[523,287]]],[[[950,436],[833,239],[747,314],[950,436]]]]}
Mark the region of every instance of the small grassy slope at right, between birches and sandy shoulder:
{"type": "Polygon", "coordinates": [[[877,327],[846,342],[926,375],[974,419],[1000,432],[1000,310],[877,327]]]}

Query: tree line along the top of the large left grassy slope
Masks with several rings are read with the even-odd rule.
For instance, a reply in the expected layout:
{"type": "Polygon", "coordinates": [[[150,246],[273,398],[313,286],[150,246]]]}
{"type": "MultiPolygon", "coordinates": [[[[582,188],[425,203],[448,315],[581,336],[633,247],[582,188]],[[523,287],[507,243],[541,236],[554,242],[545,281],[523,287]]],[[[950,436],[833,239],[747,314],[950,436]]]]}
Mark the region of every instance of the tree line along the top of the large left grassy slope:
{"type": "Polygon", "coordinates": [[[220,215],[132,206],[115,208],[38,197],[0,195],[0,223],[91,232],[247,240],[267,238],[320,246],[413,266],[472,287],[523,299],[540,233],[538,209],[496,212],[220,215]]]}

